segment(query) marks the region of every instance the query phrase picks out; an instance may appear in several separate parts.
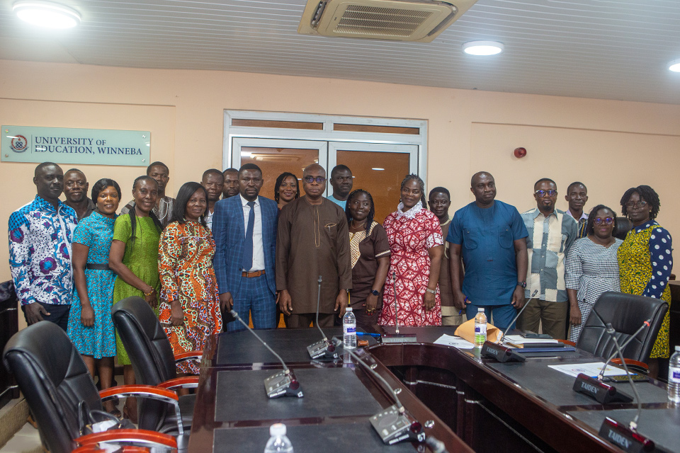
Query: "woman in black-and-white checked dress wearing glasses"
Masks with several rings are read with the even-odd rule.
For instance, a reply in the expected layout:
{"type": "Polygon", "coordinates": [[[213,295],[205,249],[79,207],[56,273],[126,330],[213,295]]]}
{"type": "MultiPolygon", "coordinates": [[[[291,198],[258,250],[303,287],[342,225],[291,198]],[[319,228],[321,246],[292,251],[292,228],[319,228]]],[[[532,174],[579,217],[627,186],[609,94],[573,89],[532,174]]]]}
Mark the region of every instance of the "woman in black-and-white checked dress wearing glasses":
{"type": "Polygon", "coordinates": [[[567,253],[565,282],[572,326],[569,339],[574,342],[600,294],[621,291],[616,252],[623,241],[613,236],[614,229],[616,214],[597,205],[588,216],[588,236],[574,242],[567,253]]]}

